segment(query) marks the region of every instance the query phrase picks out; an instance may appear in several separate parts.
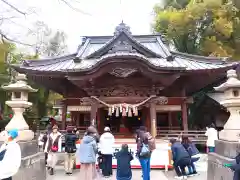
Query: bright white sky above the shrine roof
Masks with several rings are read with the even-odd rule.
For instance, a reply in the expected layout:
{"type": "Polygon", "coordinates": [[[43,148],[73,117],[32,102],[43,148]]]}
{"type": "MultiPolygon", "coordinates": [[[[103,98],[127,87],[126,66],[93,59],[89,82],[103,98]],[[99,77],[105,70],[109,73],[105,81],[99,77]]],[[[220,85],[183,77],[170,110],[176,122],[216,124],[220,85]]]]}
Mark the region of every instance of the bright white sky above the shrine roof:
{"type": "MultiPolygon", "coordinates": [[[[13,12],[7,5],[0,13],[8,17],[0,28],[13,39],[32,44],[35,39],[28,35],[36,21],[43,21],[54,31],[67,34],[69,52],[75,52],[82,36],[113,35],[115,27],[123,20],[133,34],[150,34],[153,7],[161,0],[7,0],[28,15],[13,12]],[[9,10],[9,11],[7,11],[9,10]]],[[[25,47],[26,49],[29,49],[25,47]]]]}

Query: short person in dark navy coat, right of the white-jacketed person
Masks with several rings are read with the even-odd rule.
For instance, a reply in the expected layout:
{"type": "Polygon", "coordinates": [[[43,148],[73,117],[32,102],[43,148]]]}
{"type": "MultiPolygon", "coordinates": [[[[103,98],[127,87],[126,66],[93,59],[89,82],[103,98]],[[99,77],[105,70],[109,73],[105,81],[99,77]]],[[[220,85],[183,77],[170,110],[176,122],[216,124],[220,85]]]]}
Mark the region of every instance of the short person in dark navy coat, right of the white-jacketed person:
{"type": "Polygon", "coordinates": [[[132,154],[128,151],[128,145],[123,144],[122,149],[116,154],[117,159],[117,180],[131,180],[132,170],[131,161],[132,154]]]}

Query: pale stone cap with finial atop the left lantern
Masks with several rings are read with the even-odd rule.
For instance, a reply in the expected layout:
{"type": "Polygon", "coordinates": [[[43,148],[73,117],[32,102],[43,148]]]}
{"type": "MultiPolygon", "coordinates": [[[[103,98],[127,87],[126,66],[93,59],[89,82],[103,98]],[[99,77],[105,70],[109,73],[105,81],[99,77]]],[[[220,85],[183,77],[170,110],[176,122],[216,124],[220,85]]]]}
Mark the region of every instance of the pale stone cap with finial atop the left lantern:
{"type": "Polygon", "coordinates": [[[37,89],[33,89],[31,86],[27,85],[26,79],[25,74],[18,74],[16,76],[17,82],[2,86],[2,89],[7,91],[37,92],[37,89]]]}

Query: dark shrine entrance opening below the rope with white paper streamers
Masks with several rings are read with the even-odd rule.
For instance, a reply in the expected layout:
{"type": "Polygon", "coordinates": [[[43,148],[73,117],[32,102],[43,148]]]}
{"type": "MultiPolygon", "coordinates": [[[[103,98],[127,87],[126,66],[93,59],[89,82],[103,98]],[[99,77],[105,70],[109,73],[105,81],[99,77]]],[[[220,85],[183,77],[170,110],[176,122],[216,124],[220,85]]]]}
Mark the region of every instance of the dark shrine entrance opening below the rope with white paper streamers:
{"type": "Polygon", "coordinates": [[[145,124],[145,118],[142,110],[138,111],[138,115],[123,116],[121,113],[109,115],[105,108],[100,109],[102,130],[108,126],[114,134],[134,134],[137,128],[145,124]]]}

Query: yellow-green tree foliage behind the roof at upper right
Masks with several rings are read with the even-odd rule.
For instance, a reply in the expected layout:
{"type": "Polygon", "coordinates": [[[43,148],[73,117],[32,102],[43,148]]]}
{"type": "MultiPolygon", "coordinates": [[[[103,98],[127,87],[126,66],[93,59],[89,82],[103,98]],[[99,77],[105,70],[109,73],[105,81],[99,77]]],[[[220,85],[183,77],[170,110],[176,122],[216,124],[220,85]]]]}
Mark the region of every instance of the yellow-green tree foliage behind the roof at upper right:
{"type": "Polygon", "coordinates": [[[166,2],[164,7],[157,5],[154,8],[153,28],[164,34],[178,51],[240,57],[240,3],[235,4],[232,0],[166,2]]]}

